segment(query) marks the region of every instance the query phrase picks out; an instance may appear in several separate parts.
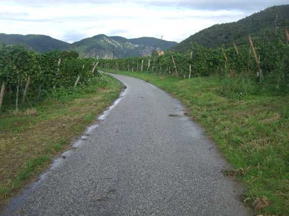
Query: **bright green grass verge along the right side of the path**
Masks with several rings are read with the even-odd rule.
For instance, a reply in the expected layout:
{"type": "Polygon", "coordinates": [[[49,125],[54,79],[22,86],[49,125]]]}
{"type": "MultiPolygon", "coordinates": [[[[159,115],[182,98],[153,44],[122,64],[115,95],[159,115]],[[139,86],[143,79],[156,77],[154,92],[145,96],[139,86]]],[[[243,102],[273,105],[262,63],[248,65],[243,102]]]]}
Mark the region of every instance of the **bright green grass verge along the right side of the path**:
{"type": "Polygon", "coordinates": [[[180,99],[234,168],[228,176],[244,185],[243,201],[256,214],[289,215],[288,94],[276,96],[275,91],[248,79],[182,80],[146,72],[105,71],[146,80],[180,99]],[[269,205],[262,202],[266,198],[269,205]]]}

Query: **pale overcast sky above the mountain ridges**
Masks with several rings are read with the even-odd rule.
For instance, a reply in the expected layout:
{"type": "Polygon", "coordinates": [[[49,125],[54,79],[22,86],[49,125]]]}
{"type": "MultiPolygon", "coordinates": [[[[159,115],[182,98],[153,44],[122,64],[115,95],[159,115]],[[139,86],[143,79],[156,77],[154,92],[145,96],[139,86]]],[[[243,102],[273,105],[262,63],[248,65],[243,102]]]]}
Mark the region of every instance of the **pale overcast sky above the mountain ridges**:
{"type": "Polygon", "coordinates": [[[45,34],[74,42],[96,34],[181,41],[288,0],[0,0],[0,33],[45,34]]]}

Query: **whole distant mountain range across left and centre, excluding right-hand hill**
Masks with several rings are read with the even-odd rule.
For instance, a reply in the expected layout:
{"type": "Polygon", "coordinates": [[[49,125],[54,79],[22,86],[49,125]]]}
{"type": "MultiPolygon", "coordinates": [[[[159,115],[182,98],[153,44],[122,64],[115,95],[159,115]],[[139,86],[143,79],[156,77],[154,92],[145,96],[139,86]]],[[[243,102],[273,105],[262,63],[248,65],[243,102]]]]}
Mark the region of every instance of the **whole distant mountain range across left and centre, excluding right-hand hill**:
{"type": "MultiPolygon", "coordinates": [[[[154,49],[160,49],[160,39],[154,37],[140,37],[127,39],[120,36],[106,36],[99,34],[85,38],[73,44],[54,39],[46,35],[37,34],[3,34],[0,33],[0,43],[8,45],[24,45],[35,52],[49,52],[52,50],[75,50],[81,57],[115,58],[149,56],[154,49]]],[[[162,40],[162,49],[166,50],[177,45],[177,42],[162,40]]]]}

